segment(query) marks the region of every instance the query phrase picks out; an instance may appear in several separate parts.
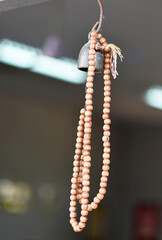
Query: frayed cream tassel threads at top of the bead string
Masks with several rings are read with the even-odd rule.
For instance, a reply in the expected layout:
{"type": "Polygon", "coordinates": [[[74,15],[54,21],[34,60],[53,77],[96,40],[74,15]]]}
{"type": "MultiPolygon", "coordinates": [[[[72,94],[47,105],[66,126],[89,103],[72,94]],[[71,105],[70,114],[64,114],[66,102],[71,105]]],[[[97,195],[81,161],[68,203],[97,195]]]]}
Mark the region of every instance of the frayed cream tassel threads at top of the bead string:
{"type": "Polygon", "coordinates": [[[110,48],[111,51],[111,73],[113,78],[115,79],[119,74],[117,72],[117,58],[120,57],[120,60],[123,61],[123,55],[121,53],[121,49],[116,45],[110,43],[107,48],[110,48]]]}

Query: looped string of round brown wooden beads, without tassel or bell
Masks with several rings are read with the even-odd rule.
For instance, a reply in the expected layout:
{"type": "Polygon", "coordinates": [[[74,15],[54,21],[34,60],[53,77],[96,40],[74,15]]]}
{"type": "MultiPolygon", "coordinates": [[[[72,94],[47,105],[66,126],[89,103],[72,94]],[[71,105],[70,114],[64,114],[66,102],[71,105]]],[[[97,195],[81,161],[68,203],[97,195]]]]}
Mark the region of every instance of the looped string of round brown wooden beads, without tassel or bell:
{"type": "Polygon", "coordinates": [[[73,162],[73,176],[71,179],[70,196],[70,223],[75,232],[81,232],[86,227],[89,211],[96,209],[104,198],[109,176],[110,164],[110,102],[111,102],[111,81],[110,63],[111,54],[106,39],[96,31],[91,32],[89,67],[86,80],[85,107],[80,111],[79,124],[77,128],[76,150],[73,162]],[[105,52],[104,64],[104,104],[103,104],[103,166],[100,179],[98,194],[89,203],[90,191],[90,167],[91,167],[91,129],[92,129],[92,110],[93,110],[93,80],[95,76],[95,54],[96,50],[102,49],[105,52]],[[77,222],[76,206],[77,200],[81,204],[81,216],[77,222]]]}

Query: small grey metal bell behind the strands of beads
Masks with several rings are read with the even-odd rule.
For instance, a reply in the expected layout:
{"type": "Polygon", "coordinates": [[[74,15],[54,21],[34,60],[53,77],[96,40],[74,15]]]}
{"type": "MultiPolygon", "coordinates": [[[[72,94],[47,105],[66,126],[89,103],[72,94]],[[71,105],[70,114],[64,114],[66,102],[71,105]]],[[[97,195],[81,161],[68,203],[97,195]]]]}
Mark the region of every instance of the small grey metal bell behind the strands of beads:
{"type": "MultiPolygon", "coordinates": [[[[80,50],[79,57],[78,57],[78,69],[81,71],[88,71],[89,67],[89,49],[90,49],[90,43],[86,43],[82,49],[80,50]]],[[[96,73],[101,73],[104,70],[104,53],[102,50],[96,51],[95,55],[95,72],[96,73]]]]}

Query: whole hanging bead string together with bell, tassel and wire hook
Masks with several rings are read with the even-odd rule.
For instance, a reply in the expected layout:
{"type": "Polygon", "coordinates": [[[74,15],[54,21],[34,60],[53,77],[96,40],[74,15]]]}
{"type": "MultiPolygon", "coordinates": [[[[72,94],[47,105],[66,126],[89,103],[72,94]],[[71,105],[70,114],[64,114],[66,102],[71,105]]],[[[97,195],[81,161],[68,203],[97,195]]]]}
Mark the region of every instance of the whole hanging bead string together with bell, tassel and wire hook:
{"type": "Polygon", "coordinates": [[[108,44],[100,32],[103,21],[103,5],[100,6],[100,20],[89,33],[89,42],[80,51],[78,68],[87,71],[85,106],[80,111],[77,128],[76,149],[73,162],[73,176],[71,179],[70,195],[70,224],[75,232],[81,232],[86,227],[87,216],[96,209],[106,194],[110,164],[110,102],[111,80],[110,73],[116,78],[118,72],[117,56],[123,59],[120,48],[108,44]],[[103,165],[98,194],[89,203],[90,167],[91,167],[91,131],[93,110],[93,81],[96,72],[103,72],[104,76],[104,104],[103,104],[103,165]],[[80,221],[77,222],[77,200],[81,205],[80,221]]]}

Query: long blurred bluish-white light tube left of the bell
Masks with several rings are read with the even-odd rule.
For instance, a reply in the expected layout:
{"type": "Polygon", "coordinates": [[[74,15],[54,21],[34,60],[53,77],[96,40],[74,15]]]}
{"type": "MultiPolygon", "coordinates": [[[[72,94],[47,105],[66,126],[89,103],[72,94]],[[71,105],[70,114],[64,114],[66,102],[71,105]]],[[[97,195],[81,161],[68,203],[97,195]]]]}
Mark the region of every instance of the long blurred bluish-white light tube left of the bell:
{"type": "Polygon", "coordinates": [[[76,60],[48,57],[40,49],[8,39],[0,41],[0,62],[74,84],[84,83],[86,78],[76,60]]]}

